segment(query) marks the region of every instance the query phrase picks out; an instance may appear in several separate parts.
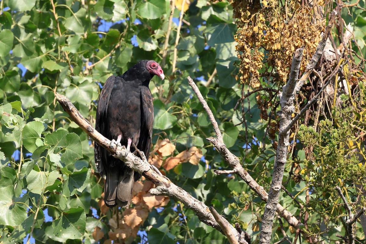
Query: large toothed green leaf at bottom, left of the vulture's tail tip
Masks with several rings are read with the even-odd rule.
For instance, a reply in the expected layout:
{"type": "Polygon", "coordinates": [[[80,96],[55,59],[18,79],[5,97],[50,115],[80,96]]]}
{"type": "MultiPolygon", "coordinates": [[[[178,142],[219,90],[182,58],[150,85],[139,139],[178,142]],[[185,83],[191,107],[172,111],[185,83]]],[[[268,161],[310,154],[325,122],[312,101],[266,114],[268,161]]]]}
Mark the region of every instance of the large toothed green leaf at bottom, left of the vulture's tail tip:
{"type": "Polygon", "coordinates": [[[71,208],[63,212],[59,219],[52,223],[53,234],[64,239],[79,239],[85,233],[86,214],[82,207],[71,208]]]}

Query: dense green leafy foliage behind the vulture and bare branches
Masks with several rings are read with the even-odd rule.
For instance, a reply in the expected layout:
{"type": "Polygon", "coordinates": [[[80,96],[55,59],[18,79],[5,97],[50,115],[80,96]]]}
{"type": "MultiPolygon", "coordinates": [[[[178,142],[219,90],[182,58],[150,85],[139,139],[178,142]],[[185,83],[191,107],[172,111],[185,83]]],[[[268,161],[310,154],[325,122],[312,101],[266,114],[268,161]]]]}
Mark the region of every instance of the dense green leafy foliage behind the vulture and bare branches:
{"type": "MultiPolygon", "coordinates": [[[[245,124],[240,109],[233,110],[242,89],[235,80],[239,60],[232,7],[226,1],[194,1],[184,12],[180,33],[176,8],[164,57],[170,10],[168,0],[0,1],[1,243],[22,243],[27,235],[27,241],[33,240],[31,236],[35,243],[50,244],[146,243],[147,239],[150,244],[225,243],[221,233],[174,200],[148,213],[138,226],[146,232],[122,240],[111,222],[122,210],[104,212],[98,204],[104,183],[94,165],[93,142],[69,119],[54,94],[66,95],[93,124],[105,80],[142,59],[158,61],[166,75],[165,80],[154,78],[150,83],[153,144],[168,138],[176,146],[173,155],[195,146],[204,156],[198,165],[178,164],[167,176],[231,223],[239,222],[252,242],[257,239],[264,203],[236,176],[213,174],[213,169],[227,166],[205,140],[214,132],[186,80],[199,78],[195,81],[225,144],[268,190],[275,160],[272,141],[265,135],[268,121],[261,119],[255,95],[243,105],[244,110],[250,108],[245,124]],[[113,23],[110,28],[108,23],[113,23]]],[[[354,15],[365,21],[359,12],[354,15]]],[[[302,144],[296,144],[292,153],[285,174],[294,162],[305,166],[302,144]]],[[[296,180],[288,173],[285,179],[285,188],[304,203],[308,179],[296,180]]],[[[295,216],[303,211],[286,194],[280,203],[295,216]]],[[[311,214],[314,233],[322,232],[324,215],[311,214]]],[[[273,241],[282,238],[278,226],[275,222],[273,241]]],[[[286,222],[284,226],[292,238],[294,230],[286,222]]],[[[336,238],[337,226],[338,222],[330,225],[326,238],[336,238]]],[[[359,225],[357,230],[357,237],[364,238],[359,225]]]]}

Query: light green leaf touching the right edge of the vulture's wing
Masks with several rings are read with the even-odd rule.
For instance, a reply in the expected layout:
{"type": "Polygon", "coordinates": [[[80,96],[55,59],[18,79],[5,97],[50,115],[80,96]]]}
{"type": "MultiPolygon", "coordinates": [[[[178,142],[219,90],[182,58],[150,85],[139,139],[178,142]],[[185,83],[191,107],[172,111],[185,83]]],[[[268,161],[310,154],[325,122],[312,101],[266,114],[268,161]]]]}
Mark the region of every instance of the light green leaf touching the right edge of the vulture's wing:
{"type": "Polygon", "coordinates": [[[154,128],[169,129],[177,122],[177,117],[171,115],[160,100],[154,100],[154,128]]]}

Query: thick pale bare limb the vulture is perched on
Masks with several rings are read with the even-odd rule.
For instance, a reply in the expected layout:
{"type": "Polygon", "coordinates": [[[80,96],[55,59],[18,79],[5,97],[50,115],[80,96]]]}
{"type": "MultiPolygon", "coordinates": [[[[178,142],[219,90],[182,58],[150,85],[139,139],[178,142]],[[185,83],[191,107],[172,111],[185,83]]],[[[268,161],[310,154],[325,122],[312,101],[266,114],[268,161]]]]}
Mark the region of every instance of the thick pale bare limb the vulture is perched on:
{"type": "MultiPolygon", "coordinates": [[[[150,168],[150,164],[146,160],[143,161],[141,158],[135,156],[131,152],[128,152],[126,149],[117,147],[114,143],[111,144],[111,141],[96,131],[93,126],[91,126],[89,121],[87,121],[81,115],[81,113],[75,108],[71,101],[68,100],[64,95],[56,93],[55,97],[60,105],[64,108],[65,112],[68,113],[71,119],[77,125],[79,125],[79,127],[82,128],[83,131],[85,131],[86,134],[90,136],[90,138],[111,152],[113,157],[121,159],[129,168],[135,170],[139,174],[142,174],[146,179],[152,181],[156,185],[156,188],[150,189],[150,194],[165,195],[179,200],[189,209],[193,210],[200,221],[222,232],[219,224],[209,211],[208,206],[195,199],[182,188],[173,184],[167,177],[158,174],[155,170],[150,168]]],[[[229,228],[231,229],[231,232],[234,233],[234,236],[239,239],[240,233],[238,233],[234,226],[229,228]]]]}

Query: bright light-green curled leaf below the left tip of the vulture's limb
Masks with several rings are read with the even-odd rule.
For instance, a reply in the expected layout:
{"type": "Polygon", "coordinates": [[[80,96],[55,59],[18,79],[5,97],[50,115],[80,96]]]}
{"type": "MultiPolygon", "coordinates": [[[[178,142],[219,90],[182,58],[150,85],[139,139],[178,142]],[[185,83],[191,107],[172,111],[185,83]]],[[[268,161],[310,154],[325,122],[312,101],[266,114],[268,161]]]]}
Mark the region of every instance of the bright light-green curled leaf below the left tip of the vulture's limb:
{"type": "Polygon", "coordinates": [[[23,129],[23,145],[31,153],[37,149],[36,139],[41,137],[41,132],[45,129],[40,121],[31,121],[23,129]]]}

